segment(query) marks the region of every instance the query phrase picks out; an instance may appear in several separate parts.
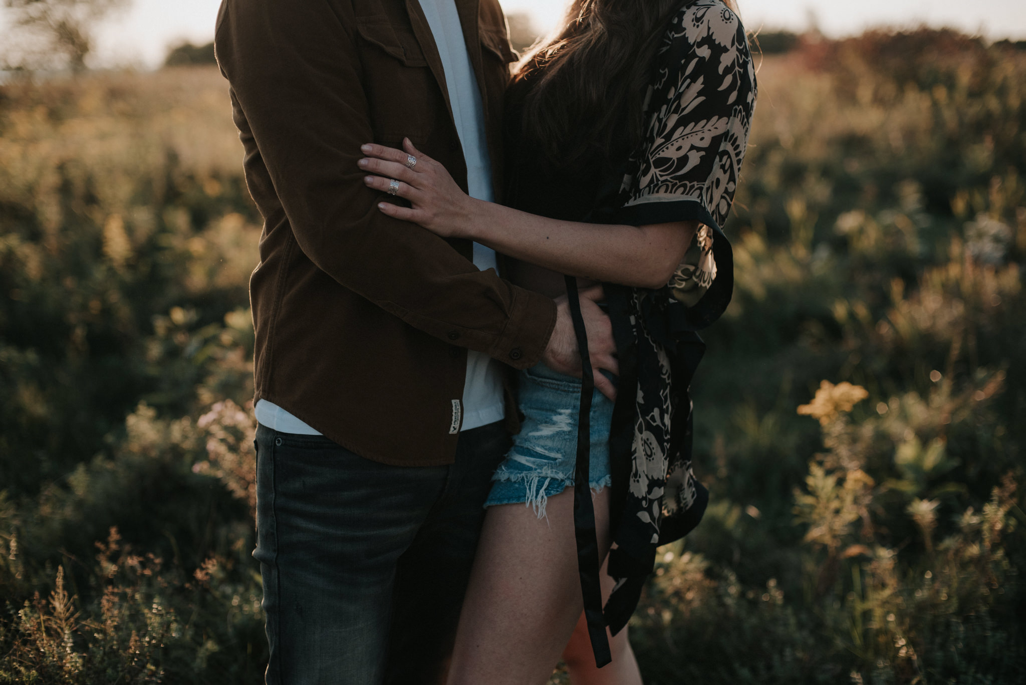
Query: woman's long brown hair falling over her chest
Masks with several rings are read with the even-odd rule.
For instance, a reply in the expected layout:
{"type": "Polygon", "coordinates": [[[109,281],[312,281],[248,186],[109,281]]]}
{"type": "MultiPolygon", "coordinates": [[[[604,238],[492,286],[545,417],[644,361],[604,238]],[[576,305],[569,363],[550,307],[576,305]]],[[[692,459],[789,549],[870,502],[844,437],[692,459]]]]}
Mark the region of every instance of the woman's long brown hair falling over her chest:
{"type": "MultiPolygon", "coordinates": [[[[723,0],[736,10],[734,0],[723,0]]],[[[643,135],[642,100],[667,23],[685,0],[574,0],[563,23],[520,60],[531,78],[524,132],[553,160],[598,146],[608,156],[643,135]]]]}

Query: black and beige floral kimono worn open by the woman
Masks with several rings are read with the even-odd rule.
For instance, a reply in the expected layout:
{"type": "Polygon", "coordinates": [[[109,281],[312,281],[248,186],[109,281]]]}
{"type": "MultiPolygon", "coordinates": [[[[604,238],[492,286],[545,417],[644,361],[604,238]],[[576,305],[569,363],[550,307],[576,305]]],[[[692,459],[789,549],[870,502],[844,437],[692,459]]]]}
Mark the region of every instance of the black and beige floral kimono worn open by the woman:
{"type": "MultiPolygon", "coordinates": [[[[755,71],[737,15],[719,0],[685,3],[657,58],[645,98],[644,141],[619,192],[601,198],[589,217],[633,226],[700,223],[665,287],[605,284],[621,393],[609,439],[614,547],[608,570],[617,583],[604,612],[600,600],[596,606],[597,573],[591,577],[597,569],[585,558],[590,555],[579,554],[597,661],[607,658],[601,625],[617,633],[627,623],[655,565],[656,547],[690,531],[708,501],[692,471],[688,388],[705,349],[697,332],[722,314],[734,289],[733,254],[721,226],[737,190],[755,97],[755,71]],[[626,390],[631,385],[633,393],[626,390]]],[[[583,389],[582,404],[590,394],[590,388],[583,389]]],[[[586,442],[582,447],[579,468],[582,457],[585,464],[588,458],[586,442]]],[[[579,494],[584,506],[575,507],[579,553],[586,537],[580,524],[587,522],[579,521],[577,511],[591,508],[581,499],[579,494]]]]}

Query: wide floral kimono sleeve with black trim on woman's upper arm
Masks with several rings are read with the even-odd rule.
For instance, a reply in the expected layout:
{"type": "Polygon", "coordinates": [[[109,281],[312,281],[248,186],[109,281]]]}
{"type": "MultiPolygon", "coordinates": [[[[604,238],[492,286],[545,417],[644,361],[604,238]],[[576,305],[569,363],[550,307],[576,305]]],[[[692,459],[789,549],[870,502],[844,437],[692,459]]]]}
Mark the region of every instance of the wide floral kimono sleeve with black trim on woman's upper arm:
{"type": "MultiPolygon", "coordinates": [[[[647,128],[624,180],[623,223],[698,221],[696,240],[667,284],[683,305],[680,326],[698,330],[726,309],[734,290],[722,232],[745,156],[756,82],[744,27],[719,0],[674,17],[648,91],[647,128]]],[[[678,307],[675,307],[679,309],[678,307]]]]}

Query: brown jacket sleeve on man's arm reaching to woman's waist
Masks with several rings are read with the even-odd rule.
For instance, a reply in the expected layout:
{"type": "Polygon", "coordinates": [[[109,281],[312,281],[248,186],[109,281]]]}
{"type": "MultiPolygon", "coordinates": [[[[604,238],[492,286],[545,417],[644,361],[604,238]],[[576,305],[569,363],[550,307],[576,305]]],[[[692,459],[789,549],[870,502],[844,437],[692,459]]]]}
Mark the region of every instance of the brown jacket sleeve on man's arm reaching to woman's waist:
{"type": "MultiPolygon", "coordinates": [[[[356,166],[372,142],[354,17],[331,0],[224,0],[215,46],[300,249],[345,288],[432,336],[536,364],[555,305],[480,271],[445,240],[386,217],[356,166]]],[[[248,154],[248,151],[247,151],[248,154]]]]}

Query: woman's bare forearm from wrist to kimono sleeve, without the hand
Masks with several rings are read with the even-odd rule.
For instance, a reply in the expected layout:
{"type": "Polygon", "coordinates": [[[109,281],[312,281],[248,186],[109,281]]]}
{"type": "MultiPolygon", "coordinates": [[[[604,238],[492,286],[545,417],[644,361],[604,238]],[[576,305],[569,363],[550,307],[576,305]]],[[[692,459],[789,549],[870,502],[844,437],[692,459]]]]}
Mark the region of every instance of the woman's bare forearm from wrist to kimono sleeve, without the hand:
{"type": "Polygon", "coordinates": [[[659,288],[673,275],[697,222],[649,226],[547,219],[471,200],[459,233],[496,252],[571,276],[659,288]]]}

